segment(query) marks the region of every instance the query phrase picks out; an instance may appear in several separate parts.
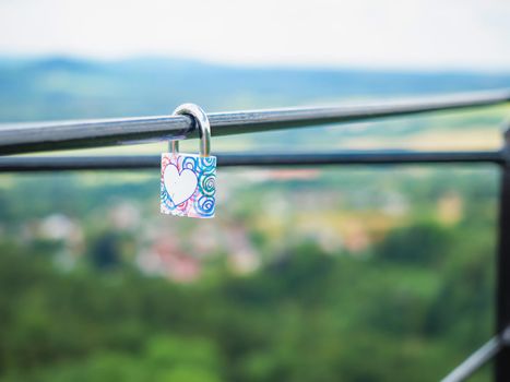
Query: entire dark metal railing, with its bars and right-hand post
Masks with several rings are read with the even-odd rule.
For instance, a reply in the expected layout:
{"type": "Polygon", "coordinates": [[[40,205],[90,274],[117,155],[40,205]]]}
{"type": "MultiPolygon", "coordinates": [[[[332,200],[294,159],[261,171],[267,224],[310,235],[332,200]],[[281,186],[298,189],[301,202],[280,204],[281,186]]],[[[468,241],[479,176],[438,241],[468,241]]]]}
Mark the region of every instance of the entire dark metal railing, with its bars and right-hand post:
{"type": "MultiPolygon", "coordinates": [[[[509,104],[510,89],[379,104],[210,114],[213,136],[354,122],[509,104]]],[[[187,116],[0,124],[0,155],[197,138],[187,116]]],[[[216,154],[218,166],[407,165],[487,163],[501,169],[496,285],[496,336],[455,368],[444,382],[463,381],[496,359],[495,381],[510,381],[510,130],[503,147],[470,152],[336,152],[216,154]]],[[[4,156],[0,172],[156,169],[157,155],[4,156]]]]}

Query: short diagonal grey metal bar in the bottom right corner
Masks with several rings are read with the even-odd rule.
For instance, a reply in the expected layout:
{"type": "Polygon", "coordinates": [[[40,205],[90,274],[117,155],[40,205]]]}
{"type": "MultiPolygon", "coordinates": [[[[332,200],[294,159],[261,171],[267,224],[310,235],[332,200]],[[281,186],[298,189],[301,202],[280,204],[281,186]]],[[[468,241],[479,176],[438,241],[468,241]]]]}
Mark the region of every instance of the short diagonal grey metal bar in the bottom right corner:
{"type": "Polygon", "coordinates": [[[484,346],[467,357],[461,365],[453,369],[441,382],[461,382],[473,375],[473,373],[491,360],[499,351],[508,346],[510,329],[495,336],[484,346]]]}

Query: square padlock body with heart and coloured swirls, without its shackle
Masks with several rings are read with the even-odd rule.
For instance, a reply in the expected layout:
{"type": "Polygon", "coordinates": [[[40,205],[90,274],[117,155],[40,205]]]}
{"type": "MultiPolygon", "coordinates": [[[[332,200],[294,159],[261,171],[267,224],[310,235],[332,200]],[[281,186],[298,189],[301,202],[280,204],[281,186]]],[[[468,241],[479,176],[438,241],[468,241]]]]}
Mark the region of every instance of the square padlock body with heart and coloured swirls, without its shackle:
{"type": "Polygon", "coordinates": [[[163,153],[162,213],[211,218],[215,208],[216,157],[163,153]]]}

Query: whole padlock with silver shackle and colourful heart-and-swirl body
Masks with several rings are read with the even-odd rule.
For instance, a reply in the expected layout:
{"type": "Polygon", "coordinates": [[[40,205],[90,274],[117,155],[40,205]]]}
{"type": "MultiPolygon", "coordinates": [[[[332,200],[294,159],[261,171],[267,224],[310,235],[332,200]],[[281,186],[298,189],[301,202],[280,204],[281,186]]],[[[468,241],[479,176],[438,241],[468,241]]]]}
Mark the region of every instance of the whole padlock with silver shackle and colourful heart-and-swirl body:
{"type": "Polygon", "coordinates": [[[171,141],[170,153],[162,153],[161,211],[176,216],[214,217],[216,157],[210,155],[207,115],[193,104],[180,105],[174,115],[186,115],[194,120],[200,132],[200,155],[179,153],[179,141],[171,141]]]}

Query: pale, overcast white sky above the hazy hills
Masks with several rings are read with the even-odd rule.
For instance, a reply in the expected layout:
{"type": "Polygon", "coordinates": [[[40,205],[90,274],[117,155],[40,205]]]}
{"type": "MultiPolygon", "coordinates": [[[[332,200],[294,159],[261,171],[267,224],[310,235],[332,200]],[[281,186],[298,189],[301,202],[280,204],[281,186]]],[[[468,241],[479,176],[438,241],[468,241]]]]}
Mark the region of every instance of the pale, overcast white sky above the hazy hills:
{"type": "Polygon", "coordinates": [[[510,71],[509,0],[0,0],[0,56],[510,71]]]}

